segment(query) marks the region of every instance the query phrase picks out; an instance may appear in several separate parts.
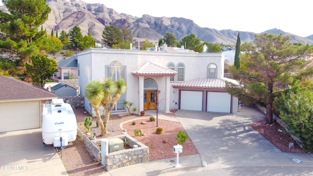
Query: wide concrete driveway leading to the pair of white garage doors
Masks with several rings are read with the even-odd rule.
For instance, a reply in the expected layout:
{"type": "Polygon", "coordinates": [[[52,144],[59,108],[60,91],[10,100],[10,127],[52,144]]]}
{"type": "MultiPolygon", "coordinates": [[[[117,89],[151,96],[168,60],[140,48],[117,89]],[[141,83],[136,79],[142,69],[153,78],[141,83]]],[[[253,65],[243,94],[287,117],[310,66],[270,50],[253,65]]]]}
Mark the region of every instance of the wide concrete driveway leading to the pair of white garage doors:
{"type": "Polygon", "coordinates": [[[249,167],[248,171],[254,167],[288,166],[313,174],[310,154],[283,153],[249,126],[265,118],[255,107],[243,106],[238,114],[189,110],[175,114],[198,149],[206,170],[232,168],[231,175],[243,175],[240,168],[249,167]],[[294,158],[303,163],[294,162],[294,158]]]}

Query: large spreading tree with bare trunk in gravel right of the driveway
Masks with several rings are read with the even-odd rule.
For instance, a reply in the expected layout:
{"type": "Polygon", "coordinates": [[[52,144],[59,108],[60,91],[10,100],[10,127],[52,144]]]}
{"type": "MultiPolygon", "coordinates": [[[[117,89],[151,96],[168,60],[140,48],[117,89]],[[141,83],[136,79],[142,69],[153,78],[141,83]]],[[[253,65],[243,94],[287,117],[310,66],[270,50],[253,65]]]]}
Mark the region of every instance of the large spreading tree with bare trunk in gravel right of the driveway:
{"type": "Polygon", "coordinates": [[[244,60],[240,69],[230,68],[229,72],[239,85],[226,84],[231,95],[241,100],[260,100],[266,104],[266,123],[273,124],[274,97],[303,76],[313,75],[312,46],[293,45],[289,36],[255,35],[253,49],[243,50],[244,60]]]}

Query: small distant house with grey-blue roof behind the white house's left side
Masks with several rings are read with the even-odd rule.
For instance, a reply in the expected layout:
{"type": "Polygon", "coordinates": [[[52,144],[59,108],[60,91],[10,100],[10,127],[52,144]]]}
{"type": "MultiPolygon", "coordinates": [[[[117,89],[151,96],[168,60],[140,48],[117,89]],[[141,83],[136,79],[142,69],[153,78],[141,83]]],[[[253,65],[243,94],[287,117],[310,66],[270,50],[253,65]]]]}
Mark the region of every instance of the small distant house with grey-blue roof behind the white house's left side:
{"type": "Polygon", "coordinates": [[[59,69],[56,72],[56,77],[58,79],[69,79],[69,73],[73,73],[75,78],[78,78],[78,66],[77,66],[77,56],[72,56],[68,59],[58,62],[57,68],[59,69]]]}

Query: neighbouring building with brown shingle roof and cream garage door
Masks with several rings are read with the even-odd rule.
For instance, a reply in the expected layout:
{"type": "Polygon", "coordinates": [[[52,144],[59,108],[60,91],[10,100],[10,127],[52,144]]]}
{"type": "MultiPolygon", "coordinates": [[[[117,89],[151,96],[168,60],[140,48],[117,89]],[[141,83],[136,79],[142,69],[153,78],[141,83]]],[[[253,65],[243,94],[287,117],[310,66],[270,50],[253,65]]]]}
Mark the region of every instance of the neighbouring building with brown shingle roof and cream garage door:
{"type": "Polygon", "coordinates": [[[0,132],[41,128],[41,101],[58,96],[45,88],[3,75],[0,83],[0,132]]]}

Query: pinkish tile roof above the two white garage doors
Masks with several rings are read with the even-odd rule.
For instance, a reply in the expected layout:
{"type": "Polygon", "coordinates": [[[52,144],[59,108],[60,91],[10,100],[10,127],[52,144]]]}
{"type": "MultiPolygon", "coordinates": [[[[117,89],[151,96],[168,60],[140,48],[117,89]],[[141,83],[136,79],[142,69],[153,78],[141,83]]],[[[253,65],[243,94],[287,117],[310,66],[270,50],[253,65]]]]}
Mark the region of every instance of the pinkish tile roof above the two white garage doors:
{"type": "Polygon", "coordinates": [[[225,88],[225,82],[233,82],[232,79],[204,79],[198,78],[172,85],[173,88],[225,88]]]}

